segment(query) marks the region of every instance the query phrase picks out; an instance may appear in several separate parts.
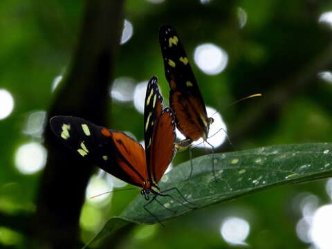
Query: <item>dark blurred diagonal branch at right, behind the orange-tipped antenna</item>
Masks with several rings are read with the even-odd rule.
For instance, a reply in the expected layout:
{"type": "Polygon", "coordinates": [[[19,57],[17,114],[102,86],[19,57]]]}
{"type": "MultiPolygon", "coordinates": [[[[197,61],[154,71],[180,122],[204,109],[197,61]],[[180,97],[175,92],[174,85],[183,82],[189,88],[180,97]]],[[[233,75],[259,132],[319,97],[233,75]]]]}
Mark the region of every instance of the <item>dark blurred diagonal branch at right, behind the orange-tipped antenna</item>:
{"type": "MultiPolygon", "coordinates": [[[[309,62],[307,66],[302,68],[301,71],[284,80],[284,82],[280,82],[267,93],[263,93],[264,101],[257,99],[255,104],[251,104],[246,111],[243,111],[243,115],[237,118],[240,121],[234,127],[230,127],[232,143],[236,145],[237,142],[259,132],[263,128],[261,125],[266,124],[264,120],[271,116],[271,113],[282,109],[296,95],[307,91],[316,84],[315,77],[317,77],[317,73],[324,70],[331,63],[332,43],[320,55],[317,55],[309,62]],[[259,108],[257,108],[257,101],[260,101],[259,108]]],[[[231,149],[234,148],[230,145],[225,145],[216,151],[221,152],[231,149]]]]}

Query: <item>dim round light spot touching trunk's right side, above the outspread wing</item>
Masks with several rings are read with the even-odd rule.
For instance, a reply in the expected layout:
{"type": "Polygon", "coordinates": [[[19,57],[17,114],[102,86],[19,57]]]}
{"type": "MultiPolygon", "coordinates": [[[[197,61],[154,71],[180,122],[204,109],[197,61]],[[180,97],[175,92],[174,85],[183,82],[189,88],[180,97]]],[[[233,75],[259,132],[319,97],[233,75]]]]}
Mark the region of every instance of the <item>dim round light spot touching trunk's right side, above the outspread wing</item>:
{"type": "Polygon", "coordinates": [[[118,77],[112,84],[111,97],[120,102],[133,100],[134,84],[135,80],[131,77],[118,77]]]}

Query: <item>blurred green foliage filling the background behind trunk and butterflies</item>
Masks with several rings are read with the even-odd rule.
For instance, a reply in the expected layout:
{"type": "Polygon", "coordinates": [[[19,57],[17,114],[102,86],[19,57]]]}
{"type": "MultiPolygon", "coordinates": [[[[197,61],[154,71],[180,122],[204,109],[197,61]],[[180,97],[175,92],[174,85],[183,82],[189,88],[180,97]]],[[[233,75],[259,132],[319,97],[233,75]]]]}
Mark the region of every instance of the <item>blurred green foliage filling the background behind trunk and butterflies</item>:
{"type": "MultiPolygon", "coordinates": [[[[165,0],[158,4],[129,0],[125,3],[124,17],[133,24],[133,37],[118,50],[114,77],[132,77],[141,82],[158,75],[167,99],[169,86],[163,76],[157,35],[161,24],[172,24],[185,44],[206,104],[219,109],[243,96],[264,94],[263,99],[223,109],[228,136],[233,140],[234,135],[236,149],[331,141],[332,85],[317,76],[320,71],[332,70],[331,26],[318,22],[322,12],[329,10],[332,3],[326,0],[211,0],[207,4],[199,0],[165,0]],[[248,15],[243,28],[239,28],[238,8],[248,15]],[[206,75],[194,64],[194,48],[205,42],[221,46],[228,53],[228,66],[218,75],[206,75]],[[248,129],[246,124],[251,124],[248,129]]],[[[0,88],[10,91],[15,99],[11,115],[0,120],[0,212],[3,214],[15,216],[17,212],[35,210],[41,174],[19,173],[15,168],[15,153],[23,143],[42,142],[24,134],[23,129],[32,111],[50,107],[56,94],[51,91],[53,79],[68,70],[83,15],[84,2],[77,0],[0,2],[0,88]]],[[[111,102],[111,98],[109,104],[110,127],[130,131],[142,140],[142,115],[133,105],[111,102]]],[[[227,145],[225,148],[229,149],[227,145]]],[[[194,150],[195,156],[206,153],[209,152],[194,150]]],[[[178,154],[174,165],[188,158],[187,152],[178,154]]],[[[294,203],[295,196],[310,192],[318,196],[321,205],[329,203],[325,184],[322,180],[279,187],[192,212],[167,222],[165,228],[138,227],[118,246],[237,248],[228,245],[219,230],[225,217],[239,216],[250,223],[246,242],[252,248],[284,248],[286,244],[287,248],[308,247],[295,232],[302,217],[299,203],[294,203]]],[[[63,194],[71,194],[71,186],[63,194]]],[[[89,229],[83,226],[82,241],[89,241],[136,194],[135,191],[114,193],[103,206],[87,203],[84,214],[98,210],[98,214],[91,215],[99,215],[95,219],[100,219],[100,223],[89,229]]],[[[1,228],[1,246],[24,248],[29,235],[20,234],[15,227],[11,229],[7,224],[1,228]],[[8,237],[16,242],[8,243],[8,237]]]]}

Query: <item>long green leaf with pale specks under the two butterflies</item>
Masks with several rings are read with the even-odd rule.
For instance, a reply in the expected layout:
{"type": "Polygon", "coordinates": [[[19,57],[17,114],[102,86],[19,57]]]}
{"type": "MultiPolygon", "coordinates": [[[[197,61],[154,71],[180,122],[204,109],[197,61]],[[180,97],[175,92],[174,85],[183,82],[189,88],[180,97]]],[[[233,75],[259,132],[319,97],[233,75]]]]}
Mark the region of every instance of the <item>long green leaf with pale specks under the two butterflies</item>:
{"type": "MultiPolygon", "coordinates": [[[[318,178],[332,176],[332,143],[299,145],[274,145],[246,151],[214,154],[216,181],[212,172],[212,155],[194,158],[194,172],[190,174],[190,161],[178,165],[163,176],[160,190],[177,187],[188,201],[199,208],[235,199],[260,190],[279,185],[302,183],[318,178]]],[[[183,201],[176,191],[169,192],[174,198],[183,201]]],[[[169,212],[156,201],[148,209],[158,216],[160,221],[191,212],[185,205],[176,203],[169,197],[158,196],[158,200],[169,212]]],[[[105,237],[129,223],[156,223],[143,206],[147,201],[137,196],[130,205],[116,218],[110,219],[95,239],[105,237]],[[122,221],[119,226],[119,220],[122,221]]]]}

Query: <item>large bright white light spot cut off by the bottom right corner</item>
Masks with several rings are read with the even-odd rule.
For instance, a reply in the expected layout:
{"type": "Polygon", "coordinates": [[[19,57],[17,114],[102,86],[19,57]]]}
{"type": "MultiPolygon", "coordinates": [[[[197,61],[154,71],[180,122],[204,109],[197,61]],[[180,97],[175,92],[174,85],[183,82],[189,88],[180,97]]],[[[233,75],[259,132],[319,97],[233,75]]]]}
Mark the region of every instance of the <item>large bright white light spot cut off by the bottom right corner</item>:
{"type": "Polygon", "coordinates": [[[317,248],[332,248],[332,205],[318,208],[313,215],[311,226],[311,239],[317,248]]]}

